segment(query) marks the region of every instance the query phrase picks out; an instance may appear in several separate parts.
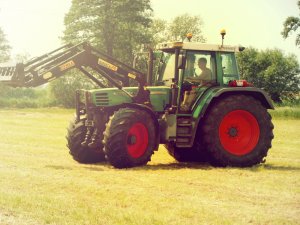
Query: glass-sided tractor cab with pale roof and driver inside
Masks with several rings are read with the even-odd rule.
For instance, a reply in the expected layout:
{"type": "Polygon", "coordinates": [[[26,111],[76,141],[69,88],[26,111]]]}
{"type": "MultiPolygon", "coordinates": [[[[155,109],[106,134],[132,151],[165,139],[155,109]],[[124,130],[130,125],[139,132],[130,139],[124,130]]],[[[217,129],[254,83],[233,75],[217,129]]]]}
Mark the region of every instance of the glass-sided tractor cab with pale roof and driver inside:
{"type": "Polygon", "coordinates": [[[155,83],[174,89],[173,105],[180,111],[192,110],[195,100],[211,87],[228,87],[240,78],[235,53],[241,47],[171,42],[157,49],[162,55],[155,83]]]}

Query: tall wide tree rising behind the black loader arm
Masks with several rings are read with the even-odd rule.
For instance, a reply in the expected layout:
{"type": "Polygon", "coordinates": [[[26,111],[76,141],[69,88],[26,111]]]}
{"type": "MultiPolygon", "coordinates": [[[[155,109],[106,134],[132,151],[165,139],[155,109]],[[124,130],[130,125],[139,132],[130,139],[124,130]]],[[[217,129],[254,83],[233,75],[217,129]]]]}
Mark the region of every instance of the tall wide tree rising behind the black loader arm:
{"type": "Polygon", "coordinates": [[[149,43],[151,13],[149,0],[73,0],[63,39],[89,39],[96,48],[131,63],[134,50],[149,43]]]}

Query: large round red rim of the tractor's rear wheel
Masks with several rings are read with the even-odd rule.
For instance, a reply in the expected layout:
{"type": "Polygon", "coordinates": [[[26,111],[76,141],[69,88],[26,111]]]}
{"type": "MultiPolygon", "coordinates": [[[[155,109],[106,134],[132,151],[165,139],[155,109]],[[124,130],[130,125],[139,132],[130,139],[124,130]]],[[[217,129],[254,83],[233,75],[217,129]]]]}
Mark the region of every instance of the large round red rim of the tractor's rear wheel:
{"type": "Polygon", "coordinates": [[[258,143],[260,129],[256,118],[245,110],[235,110],[223,118],[219,137],[223,148],[238,156],[250,153],[258,143]]]}

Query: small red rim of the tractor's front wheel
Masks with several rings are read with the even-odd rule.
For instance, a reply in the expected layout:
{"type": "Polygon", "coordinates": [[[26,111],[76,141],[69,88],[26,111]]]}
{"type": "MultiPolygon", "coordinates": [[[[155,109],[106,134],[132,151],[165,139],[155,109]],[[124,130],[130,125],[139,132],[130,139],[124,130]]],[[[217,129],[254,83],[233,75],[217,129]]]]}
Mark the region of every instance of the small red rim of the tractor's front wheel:
{"type": "Polygon", "coordinates": [[[141,157],[148,146],[148,130],[142,123],[135,123],[127,134],[127,150],[131,157],[141,157]]]}

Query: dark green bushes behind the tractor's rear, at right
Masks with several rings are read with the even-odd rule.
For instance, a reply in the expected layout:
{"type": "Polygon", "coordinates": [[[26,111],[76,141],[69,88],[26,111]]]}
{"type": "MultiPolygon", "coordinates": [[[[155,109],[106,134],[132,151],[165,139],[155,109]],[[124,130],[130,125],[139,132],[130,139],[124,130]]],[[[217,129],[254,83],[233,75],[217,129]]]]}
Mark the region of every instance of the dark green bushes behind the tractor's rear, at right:
{"type": "Polygon", "coordinates": [[[248,48],[237,59],[242,78],[265,89],[275,102],[299,95],[300,68],[295,55],[285,56],[278,49],[248,48]]]}

